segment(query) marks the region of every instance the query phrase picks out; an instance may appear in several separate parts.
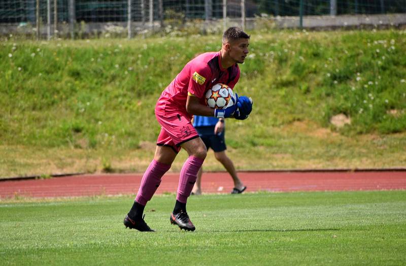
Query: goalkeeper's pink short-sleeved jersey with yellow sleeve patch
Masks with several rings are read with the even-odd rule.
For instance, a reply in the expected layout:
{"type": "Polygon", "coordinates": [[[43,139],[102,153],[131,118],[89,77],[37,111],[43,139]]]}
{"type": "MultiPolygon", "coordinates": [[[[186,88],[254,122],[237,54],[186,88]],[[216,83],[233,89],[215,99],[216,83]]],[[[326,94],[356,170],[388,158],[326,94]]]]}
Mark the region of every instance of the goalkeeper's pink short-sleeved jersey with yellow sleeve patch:
{"type": "Polygon", "coordinates": [[[176,78],[162,92],[155,106],[157,115],[173,115],[186,112],[188,92],[205,104],[205,92],[217,83],[227,84],[231,89],[240,78],[237,64],[221,68],[220,52],[203,53],[190,60],[176,78]]]}

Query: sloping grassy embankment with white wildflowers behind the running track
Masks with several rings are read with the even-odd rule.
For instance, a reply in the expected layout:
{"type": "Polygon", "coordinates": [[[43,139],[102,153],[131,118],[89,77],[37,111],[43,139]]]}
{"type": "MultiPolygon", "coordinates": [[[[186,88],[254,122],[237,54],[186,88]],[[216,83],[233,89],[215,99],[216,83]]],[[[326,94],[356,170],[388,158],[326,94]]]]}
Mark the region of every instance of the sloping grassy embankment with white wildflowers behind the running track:
{"type": "MultiPolygon", "coordinates": [[[[239,170],[406,164],[405,31],[252,32],[227,121],[239,170]],[[334,127],[337,114],[351,124],[334,127]]],[[[0,176],[142,172],[159,132],[153,107],[220,36],[0,44],[0,176]]],[[[173,171],[186,157],[178,156],[173,171]]],[[[206,170],[222,170],[209,155],[206,170]]]]}

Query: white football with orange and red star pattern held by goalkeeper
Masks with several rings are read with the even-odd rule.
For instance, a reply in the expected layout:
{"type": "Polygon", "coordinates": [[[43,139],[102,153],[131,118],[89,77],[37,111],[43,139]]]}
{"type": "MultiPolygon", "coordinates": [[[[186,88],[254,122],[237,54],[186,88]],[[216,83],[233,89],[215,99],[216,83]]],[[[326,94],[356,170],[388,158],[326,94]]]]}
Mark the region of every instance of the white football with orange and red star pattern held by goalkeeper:
{"type": "Polygon", "coordinates": [[[211,108],[226,109],[234,103],[235,95],[225,84],[216,84],[206,91],[206,104],[211,108]]]}

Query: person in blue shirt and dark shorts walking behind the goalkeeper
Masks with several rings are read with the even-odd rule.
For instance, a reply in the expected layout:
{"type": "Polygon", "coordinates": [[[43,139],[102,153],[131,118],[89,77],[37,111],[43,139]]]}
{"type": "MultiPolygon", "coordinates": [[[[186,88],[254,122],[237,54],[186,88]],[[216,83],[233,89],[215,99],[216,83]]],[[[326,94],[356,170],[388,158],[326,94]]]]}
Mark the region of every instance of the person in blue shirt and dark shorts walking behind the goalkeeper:
{"type": "MultiPolygon", "coordinates": [[[[224,118],[215,118],[209,116],[198,116],[193,117],[193,126],[196,129],[199,137],[205,143],[206,148],[212,148],[214,151],[214,156],[216,159],[223,164],[224,168],[232,177],[234,182],[234,188],[231,191],[231,194],[243,193],[247,188],[243,182],[238,178],[237,172],[235,171],[234,164],[231,159],[225,153],[227,149],[225,145],[225,124],[224,118]]],[[[197,173],[197,180],[194,184],[192,194],[200,195],[201,194],[201,175],[202,167],[197,173]]]]}

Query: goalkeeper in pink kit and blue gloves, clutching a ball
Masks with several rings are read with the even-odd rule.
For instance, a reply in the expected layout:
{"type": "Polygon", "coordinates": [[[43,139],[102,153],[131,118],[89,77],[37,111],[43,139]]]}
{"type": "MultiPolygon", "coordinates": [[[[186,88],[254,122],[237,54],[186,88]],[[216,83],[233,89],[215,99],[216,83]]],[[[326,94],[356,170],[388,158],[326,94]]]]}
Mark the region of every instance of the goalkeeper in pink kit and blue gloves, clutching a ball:
{"type": "Polygon", "coordinates": [[[203,53],[189,61],[160,95],[155,116],[161,125],[154,159],[145,171],[132,208],[124,218],[125,227],[139,231],[153,231],[145,222],[143,212],[161,183],[162,176],[171,168],[181,148],[189,155],[180,172],[175,208],[170,216],[172,224],[181,229],[195,230],[186,212],[187,199],[196,182],[197,172],[207,155],[191,119],[193,115],[217,118],[246,119],[252,103],[246,96],[238,97],[233,106],[212,109],[205,103],[205,92],[217,83],[230,88],[240,78],[237,63],[243,63],[248,54],[250,36],[238,27],[228,28],[219,52],[203,53]]]}

